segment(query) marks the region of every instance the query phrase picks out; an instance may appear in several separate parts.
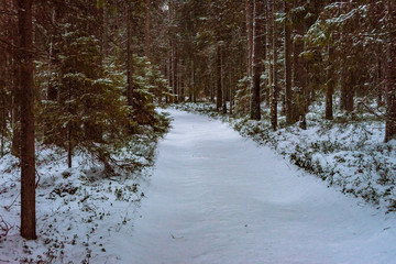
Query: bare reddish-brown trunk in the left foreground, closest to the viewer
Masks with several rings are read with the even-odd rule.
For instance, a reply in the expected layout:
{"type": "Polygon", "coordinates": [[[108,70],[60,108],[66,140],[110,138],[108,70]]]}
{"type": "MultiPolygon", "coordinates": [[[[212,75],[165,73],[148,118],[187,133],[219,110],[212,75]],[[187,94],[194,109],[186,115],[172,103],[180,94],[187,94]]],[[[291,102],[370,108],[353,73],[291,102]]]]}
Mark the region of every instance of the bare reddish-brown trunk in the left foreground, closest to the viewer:
{"type": "Polygon", "coordinates": [[[32,2],[33,0],[18,0],[21,65],[21,235],[28,240],[36,239],[32,2]]]}

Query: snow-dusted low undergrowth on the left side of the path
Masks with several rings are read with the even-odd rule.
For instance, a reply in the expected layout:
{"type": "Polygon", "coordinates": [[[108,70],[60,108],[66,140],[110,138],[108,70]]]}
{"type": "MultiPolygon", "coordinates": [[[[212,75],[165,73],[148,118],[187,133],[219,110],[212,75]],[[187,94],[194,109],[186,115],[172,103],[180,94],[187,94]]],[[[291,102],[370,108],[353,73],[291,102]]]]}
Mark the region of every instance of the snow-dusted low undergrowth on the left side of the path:
{"type": "MultiPolygon", "coordinates": [[[[165,116],[163,116],[165,117],[165,116]]],[[[141,125],[125,139],[109,168],[79,151],[67,166],[67,153],[57,146],[36,147],[36,241],[19,234],[20,165],[11,154],[0,160],[0,263],[117,263],[114,237],[130,233],[144,198],[156,145],[169,128],[141,125]],[[120,165],[120,166],[119,166],[120,165]],[[128,167],[128,169],[125,169],[128,167]]]]}

